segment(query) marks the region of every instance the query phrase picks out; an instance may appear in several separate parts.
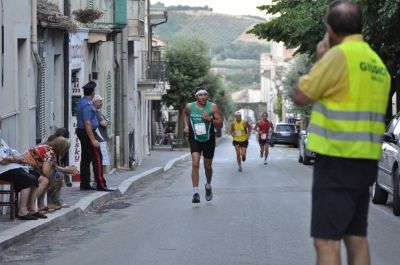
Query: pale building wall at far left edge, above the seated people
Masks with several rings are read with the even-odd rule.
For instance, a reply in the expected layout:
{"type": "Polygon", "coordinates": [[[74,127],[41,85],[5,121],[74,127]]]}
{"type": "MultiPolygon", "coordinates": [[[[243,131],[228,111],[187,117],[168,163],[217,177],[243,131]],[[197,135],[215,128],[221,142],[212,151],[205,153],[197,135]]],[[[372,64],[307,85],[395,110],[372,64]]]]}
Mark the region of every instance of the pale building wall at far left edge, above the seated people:
{"type": "Polygon", "coordinates": [[[2,135],[18,150],[35,143],[37,68],[31,54],[31,1],[0,1],[4,54],[0,80],[2,135]]]}

